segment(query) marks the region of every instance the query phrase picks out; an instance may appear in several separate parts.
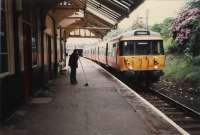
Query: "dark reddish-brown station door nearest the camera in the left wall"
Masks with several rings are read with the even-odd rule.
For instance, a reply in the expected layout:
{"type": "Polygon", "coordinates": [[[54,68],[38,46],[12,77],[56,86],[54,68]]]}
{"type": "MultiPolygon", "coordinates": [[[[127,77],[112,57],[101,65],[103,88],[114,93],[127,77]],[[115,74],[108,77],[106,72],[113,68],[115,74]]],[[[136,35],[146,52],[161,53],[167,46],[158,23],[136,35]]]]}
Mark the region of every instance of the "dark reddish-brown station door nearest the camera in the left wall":
{"type": "Polygon", "coordinates": [[[31,92],[31,74],[32,74],[32,60],[31,60],[31,26],[23,23],[23,96],[28,100],[31,92]]]}

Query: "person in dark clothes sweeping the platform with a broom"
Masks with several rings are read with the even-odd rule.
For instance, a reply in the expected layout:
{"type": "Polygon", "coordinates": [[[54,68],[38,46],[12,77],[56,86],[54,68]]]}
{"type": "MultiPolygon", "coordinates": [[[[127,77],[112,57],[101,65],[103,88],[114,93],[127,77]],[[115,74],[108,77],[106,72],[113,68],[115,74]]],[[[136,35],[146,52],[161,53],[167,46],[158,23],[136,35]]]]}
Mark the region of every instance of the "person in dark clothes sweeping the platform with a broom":
{"type": "Polygon", "coordinates": [[[74,50],[71,56],[69,57],[69,66],[71,68],[71,73],[70,73],[70,80],[71,84],[77,84],[76,80],[76,68],[78,68],[78,51],[74,50]]]}

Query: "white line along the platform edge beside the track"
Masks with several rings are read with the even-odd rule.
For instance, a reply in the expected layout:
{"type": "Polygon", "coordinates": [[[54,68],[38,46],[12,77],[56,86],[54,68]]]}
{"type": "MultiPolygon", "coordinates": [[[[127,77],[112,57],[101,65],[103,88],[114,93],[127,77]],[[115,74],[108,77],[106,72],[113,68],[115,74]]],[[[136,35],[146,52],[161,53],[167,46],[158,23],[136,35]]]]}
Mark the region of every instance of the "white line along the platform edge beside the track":
{"type": "MultiPolygon", "coordinates": [[[[94,63],[94,62],[93,62],[94,63]]],[[[96,63],[95,63],[96,64],[96,63]]],[[[97,65],[97,64],[96,64],[97,65]]],[[[181,128],[179,125],[177,125],[174,121],[172,121],[169,117],[167,117],[164,113],[162,113],[160,110],[158,110],[156,107],[154,107],[151,103],[149,103],[146,99],[144,99],[143,97],[141,97],[138,93],[136,93],[135,91],[133,91],[129,86],[127,86],[126,84],[124,84],[122,81],[120,81],[119,79],[117,79],[115,76],[113,76],[111,73],[109,73],[108,71],[106,71],[104,68],[102,68],[101,66],[97,65],[98,67],[100,67],[101,69],[103,69],[106,73],[108,73],[108,75],[110,75],[113,79],[115,79],[117,82],[119,82],[120,84],[122,84],[124,87],[126,87],[131,93],[133,93],[134,95],[136,95],[140,100],[142,100],[144,102],[144,104],[146,104],[147,106],[149,106],[154,112],[156,112],[160,117],[162,117],[164,120],[166,120],[169,124],[171,124],[173,127],[175,127],[181,134],[183,135],[190,135],[187,131],[185,131],[183,128],[181,128]]]]}

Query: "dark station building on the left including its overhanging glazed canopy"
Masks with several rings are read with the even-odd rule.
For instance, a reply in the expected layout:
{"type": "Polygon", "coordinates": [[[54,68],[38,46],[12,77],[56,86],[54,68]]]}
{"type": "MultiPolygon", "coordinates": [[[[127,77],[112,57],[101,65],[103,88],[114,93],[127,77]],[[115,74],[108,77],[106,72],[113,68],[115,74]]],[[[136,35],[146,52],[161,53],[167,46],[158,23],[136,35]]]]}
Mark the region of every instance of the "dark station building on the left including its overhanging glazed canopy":
{"type": "Polygon", "coordinates": [[[0,121],[59,75],[67,38],[102,38],[142,2],[1,0],[0,121]]]}

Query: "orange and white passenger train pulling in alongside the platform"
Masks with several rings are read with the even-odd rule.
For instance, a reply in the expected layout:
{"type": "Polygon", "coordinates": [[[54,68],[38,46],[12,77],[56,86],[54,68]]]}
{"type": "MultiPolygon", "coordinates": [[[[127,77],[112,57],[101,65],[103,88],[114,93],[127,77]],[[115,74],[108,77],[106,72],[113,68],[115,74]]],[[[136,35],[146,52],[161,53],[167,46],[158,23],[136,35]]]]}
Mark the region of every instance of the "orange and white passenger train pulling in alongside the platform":
{"type": "Polygon", "coordinates": [[[110,67],[125,78],[145,83],[163,75],[163,39],[149,30],[133,30],[84,49],[83,56],[110,67]]]}

